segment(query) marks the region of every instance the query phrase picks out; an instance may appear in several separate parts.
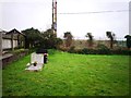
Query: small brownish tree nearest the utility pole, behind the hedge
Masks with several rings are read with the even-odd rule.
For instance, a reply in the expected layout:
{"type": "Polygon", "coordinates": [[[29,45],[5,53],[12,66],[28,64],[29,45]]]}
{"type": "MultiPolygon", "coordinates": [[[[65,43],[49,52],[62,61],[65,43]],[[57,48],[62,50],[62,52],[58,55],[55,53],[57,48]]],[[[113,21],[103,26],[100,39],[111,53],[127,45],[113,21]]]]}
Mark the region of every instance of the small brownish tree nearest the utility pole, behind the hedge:
{"type": "Polygon", "coordinates": [[[66,47],[70,47],[72,44],[72,34],[70,32],[64,33],[63,38],[66,38],[66,47]]]}

